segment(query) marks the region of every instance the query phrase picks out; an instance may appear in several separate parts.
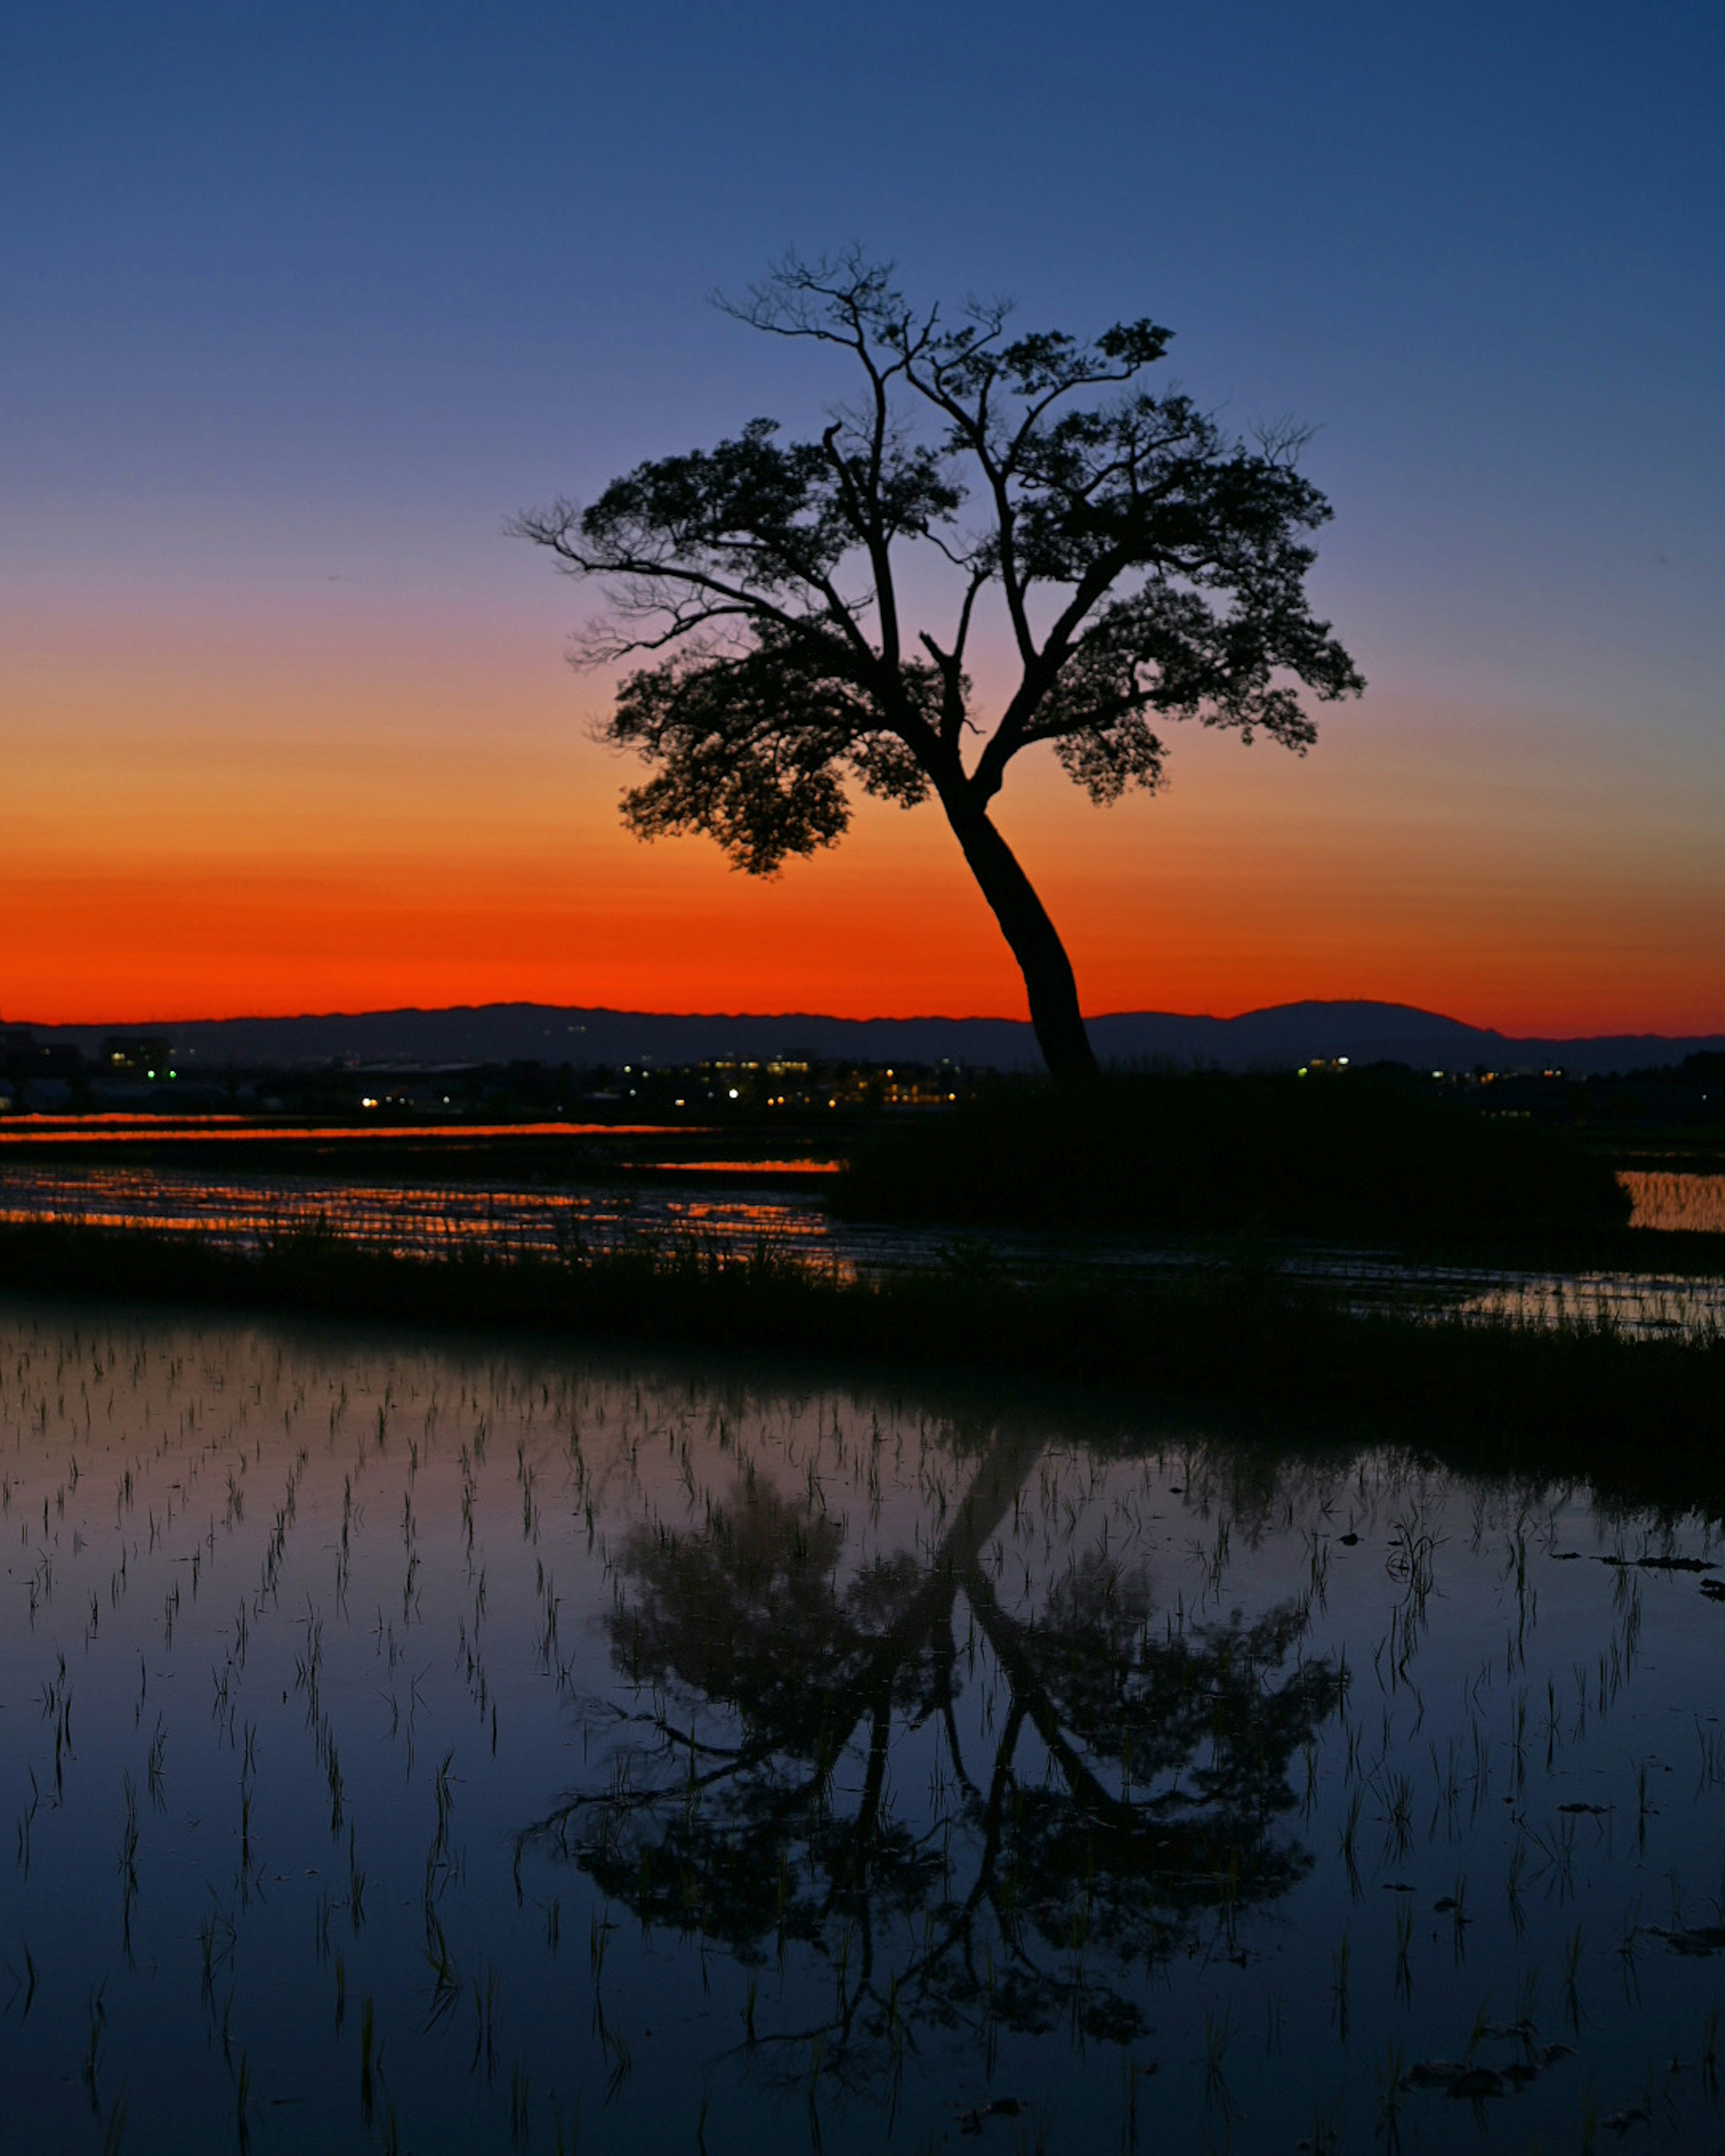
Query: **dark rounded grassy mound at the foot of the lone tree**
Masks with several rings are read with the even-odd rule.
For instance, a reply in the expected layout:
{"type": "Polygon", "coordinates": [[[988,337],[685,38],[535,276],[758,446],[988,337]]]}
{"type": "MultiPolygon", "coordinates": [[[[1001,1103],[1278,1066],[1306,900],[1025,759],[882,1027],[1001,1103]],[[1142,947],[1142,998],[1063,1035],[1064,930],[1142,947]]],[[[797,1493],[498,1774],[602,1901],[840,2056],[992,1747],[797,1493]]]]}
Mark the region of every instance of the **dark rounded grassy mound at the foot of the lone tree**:
{"type": "Polygon", "coordinates": [[[1128,1076],[1013,1087],[858,1138],[856,1220],[1574,1242],[1628,1229],[1611,1164],[1389,1078],[1128,1076]]]}

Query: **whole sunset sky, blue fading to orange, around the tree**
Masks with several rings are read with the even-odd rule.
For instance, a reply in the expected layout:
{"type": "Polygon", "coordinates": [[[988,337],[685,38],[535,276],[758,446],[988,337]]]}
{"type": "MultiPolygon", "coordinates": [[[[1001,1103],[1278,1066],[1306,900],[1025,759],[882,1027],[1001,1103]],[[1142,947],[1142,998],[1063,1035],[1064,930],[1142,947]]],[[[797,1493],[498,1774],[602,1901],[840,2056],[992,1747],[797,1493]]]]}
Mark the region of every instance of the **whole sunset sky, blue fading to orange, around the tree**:
{"type": "Polygon", "coordinates": [[[1000,796],[1089,1011],[1725,1031],[1723,91],[1712,0],[0,9],[0,1018],[1022,1015],[934,806],[632,839],[505,535],[817,429],[709,295],[858,241],[1315,429],[1367,694],[1000,796]]]}

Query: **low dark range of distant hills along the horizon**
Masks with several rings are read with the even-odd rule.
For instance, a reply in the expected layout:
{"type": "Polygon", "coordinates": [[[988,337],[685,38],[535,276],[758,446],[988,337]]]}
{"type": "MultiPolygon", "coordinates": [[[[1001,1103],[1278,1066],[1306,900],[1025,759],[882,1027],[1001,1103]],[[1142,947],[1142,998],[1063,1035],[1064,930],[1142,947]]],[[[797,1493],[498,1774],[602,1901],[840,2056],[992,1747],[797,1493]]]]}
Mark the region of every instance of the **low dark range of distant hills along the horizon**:
{"type": "MultiPolygon", "coordinates": [[[[992,1069],[1039,1065],[1031,1026],[1011,1018],[666,1015],[487,1003],[448,1011],[360,1011],[319,1018],[211,1018],[147,1026],[34,1026],[37,1039],[86,1054],[112,1033],[166,1035],[183,1072],[229,1065],[451,1065],[451,1063],[699,1063],[776,1056],[854,1063],[953,1063],[992,1069]]],[[[1544,1069],[1576,1074],[1678,1063],[1725,1050],[1725,1033],[1587,1039],[1516,1039],[1404,1003],[1279,1003],[1240,1018],[1119,1011],[1091,1020],[1104,1063],[1287,1069],[1317,1056],[1412,1063],[1423,1069],[1544,1069]]]]}

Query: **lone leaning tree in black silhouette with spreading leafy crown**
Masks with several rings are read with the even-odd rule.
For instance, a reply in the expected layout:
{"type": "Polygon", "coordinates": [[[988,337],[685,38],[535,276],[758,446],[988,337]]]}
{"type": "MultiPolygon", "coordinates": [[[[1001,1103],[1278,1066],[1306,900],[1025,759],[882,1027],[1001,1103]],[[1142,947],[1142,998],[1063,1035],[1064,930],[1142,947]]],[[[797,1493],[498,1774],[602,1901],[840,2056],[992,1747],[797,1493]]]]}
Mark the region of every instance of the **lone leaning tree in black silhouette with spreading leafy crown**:
{"type": "Polygon", "coordinates": [[[720,304],[850,356],[854,401],[819,440],[757,418],[636,466],[586,509],[513,524],[608,593],[576,662],[643,660],[602,724],[653,768],[623,815],[640,837],[707,832],[772,875],[845,830],[852,780],[906,808],[934,793],[1048,1069],[1089,1076],[1072,962],[990,804],[1037,742],[1115,802],[1160,787],[1164,720],[1305,750],[1298,686],[1324,701],[1365,686],[1307,606],[1309,533],[1330,507],[1296,468],[1305,433],[1246,446],[1184,392],[1143,388],[1171,336],[1154,321],[1089,343],[1011,334],[1005,304],[916,310],[856,252],[787,257],[720,304]],[[932,593],[949,599],[940,634],[910,619],[932,593]],[[988,604],[1013,653],[992,716],[968,671],[988,604]]]}

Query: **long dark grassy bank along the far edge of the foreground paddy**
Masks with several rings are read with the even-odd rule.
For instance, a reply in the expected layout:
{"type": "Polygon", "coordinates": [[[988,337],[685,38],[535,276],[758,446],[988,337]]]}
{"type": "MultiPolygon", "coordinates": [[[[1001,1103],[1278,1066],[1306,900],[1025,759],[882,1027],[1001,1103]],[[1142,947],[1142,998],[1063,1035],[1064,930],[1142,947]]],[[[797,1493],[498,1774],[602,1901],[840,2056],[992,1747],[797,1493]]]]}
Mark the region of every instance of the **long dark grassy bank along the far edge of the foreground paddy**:
{"type": "Polygon", "coordinates": [[[1410,1438],[1455,1466],[1725,1511],[1725,1337],[1352,1315],[1246,1255],[1177,1283],[1013,1283],[962,1266],[847,1283],[770,1250],[720,1263],[694,1244],[576,1263],[410,1261],[293,1238],[239,1257],[50,1225],[0,1229],[0,1289],[1154,1388],[1410,1438]]]}

